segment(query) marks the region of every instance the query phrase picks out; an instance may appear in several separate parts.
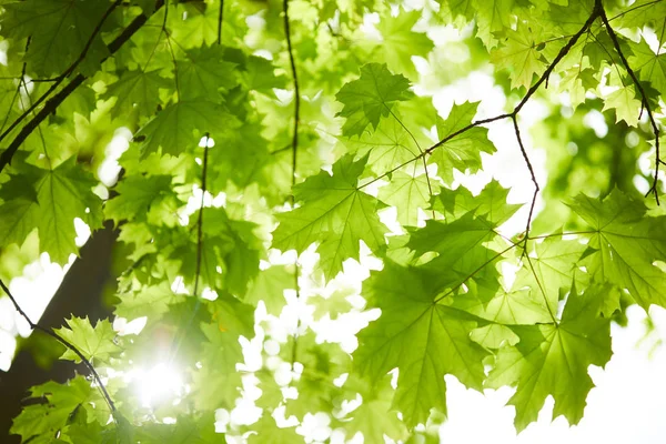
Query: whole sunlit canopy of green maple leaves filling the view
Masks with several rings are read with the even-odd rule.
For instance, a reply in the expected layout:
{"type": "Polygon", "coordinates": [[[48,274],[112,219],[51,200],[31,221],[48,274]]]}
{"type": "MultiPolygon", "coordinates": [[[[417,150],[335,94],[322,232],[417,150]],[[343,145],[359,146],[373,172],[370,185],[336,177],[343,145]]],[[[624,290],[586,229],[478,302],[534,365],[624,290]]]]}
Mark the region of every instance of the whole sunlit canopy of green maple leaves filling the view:
{"type": "Polygon", "coordinates": [[[652,184],[657,199],[663,188],[666,1],[628,3],[3,0],[2,255],[32,249],[63,264],[77,253],[74,219],[91,230],[112,221],[127,253],[115,315],[145,319],[138,335],[69,320],[57,334],[107,392],[83,376],[34,387],[43,402],[12,432],[32,443],[285,443],[303,436],[278,425],[280,412],[297,423],[324,412],[319,441],[332,428],[436,441],[445,375],[514,386],[517,430],[547,396],[577,423],[588,366],[610,359],[612,320],[632,303],[666,306],[666,216],[634,186],[652,184]],[[435,46],[443,26],[460,39],[435,46]],[[467,56],[454,65],[450,49],[467,56]],[[482,121],[478,102],[437,112],[427,91],[472,70],[492,72],[515,107],[482,121]],[[516,174],[536,184],[519,111],[548,92],[577,111],[542,123],[543,210],[507,203],[497,181],[476,195],[457,184],[497,151],[486,127],[501,120],[513,120],[506,143],[526,162],[516,174]],[[614,137],[595,137],[581,110],[605,112],[614,137]],[[122,127],[133,140],[109,191],[95,172],[122,127]],[[632,149],[620,142],[636,135],[632,149]],[[402,233],[385,224],[387,208],[402,233]],[[527,230],[506,234],[514,214],[527,230]],[[319,260],[279,254],[291,250],[319,260]],[[367,256],[381,265],[360,309],[346,268],[367,256]],[[295,327],[281,315],[294,293],[290,305],[305,307],[292,313],[314,311],[295,327]],[[371,309],[381,315],[352,354],[316,335],[316,320],[371,309]],[[266,343],[261,365],[246,362],[243,337],[266,343]],[[129,375],[165,360],[188,390],[145,405],[129,375]],[[286,382],[275,377],[283,364],[286,382]],[[251,385],[261,418],[215,426],[251,385]]]}

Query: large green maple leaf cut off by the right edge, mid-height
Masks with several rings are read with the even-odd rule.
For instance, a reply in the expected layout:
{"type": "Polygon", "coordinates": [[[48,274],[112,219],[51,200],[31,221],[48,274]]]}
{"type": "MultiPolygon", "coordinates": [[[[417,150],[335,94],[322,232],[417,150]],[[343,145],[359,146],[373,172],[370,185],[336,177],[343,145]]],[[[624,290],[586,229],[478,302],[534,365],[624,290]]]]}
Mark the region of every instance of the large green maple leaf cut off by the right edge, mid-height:
{"type": "Polygon", "coordinates": [[[666,258],[666,216],[647,216],[642,202],[618,190],[603,201],[579,195],[569,206],[592,230],[582,262],[592,278],[628,290],[646,310],[666,306],[666,273],[654,264],[666,258]]]}

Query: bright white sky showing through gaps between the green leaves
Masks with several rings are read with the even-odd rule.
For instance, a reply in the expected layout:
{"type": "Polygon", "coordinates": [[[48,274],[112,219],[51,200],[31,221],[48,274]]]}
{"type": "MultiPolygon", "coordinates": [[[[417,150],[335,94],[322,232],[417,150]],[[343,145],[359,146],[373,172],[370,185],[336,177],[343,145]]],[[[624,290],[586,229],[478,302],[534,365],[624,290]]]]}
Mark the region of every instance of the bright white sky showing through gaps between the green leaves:
{"type": "MultiPolygon", "coordinates": [[[[371,32],[372,21],[372,17],[369,17],[367,26],[371,32]]],[[[457,32],[452,28],[428,31],[428,36],[437,44],[445,44],[447,40],[458,38],[457,32]]],[[[428,73],[427,62],[417,61],[417,65],[421,72],[428,73]]],[[[504,93],[500,87],[494,84],[493,77],[487,73],[473,72],[468,78],[462,79],[434,94],[435,105],[443,115],[448,113],[454,102],[462,103],[478,100],[482,100],[478,119],[493,117],[505,111],[504,93]]],[[[545,184],[547,179],[544,168],[546,159],[542,150],[533,147],[529,128],[534,122],[543,119],[546,112],[545,105],[541,104],[538,100],[532,100],[521,112],[518,120],[523,130],[524,143],[541,184],[545,184]]],[[[593,117],[588,121],[591,125],[599,127],[595,130],[604,132],[598,119],[595,120],[593,117]]],[[[485,183],[494,178],[503,186],[512,189],[508,198],[509,202],[529,202],[533,184],[518,150],[511,121],[495,122],[487,128],[490,130],[488,135],[497,147],[498,152],[493,157],[483,153],[483,171],[475,175],[456,173],[456,181],[477,193],[485,183]]],[[[119,137],[127,139],[127,134],[119,134],[119,137]]],[[[122,148],[108,150],[110,159],[115,158],[127,148],[127,140],[125,142],[119,140],[115,143],[120,143],[118,147],[122,145],[122,148]]],[[[117,173],[117,168],[113,160],[109,162],[107,170],[100,171],[100,176],[104,182],[112,183],[112,176],[117,173]]],[[[199,196],[196,195],[193,200],[194,203],[199,205],[199,196]]],[[[541,200],[537,201],[536,210],[539,209],[539,205],[541,200]]],[[[525,205],[504,226],[505,232],[513,234],[524,230],[527,206],[525,205]]],[[[302,255],[302,262],[307,256],[307,254],[302,255]]],[[[304,266],[311,265],[304,264],[304,266]]],[[[345,266],[344,276],[350,280],[353,280],[354,275],[364,275],[367,272],[365,266],[359,266],[359,264],[354,266],[347,263],[345,265],[351,265],[345,266]]],[[[48,255],[46,258],[42,255],[38,263],[26,268],[23,276],[17,278],[10,283],[10,289],[33,321],[37,321],[43,312],[65,271],[67,266],[62,269],[51,264],[48,261],[48,255]]],[[[339,279],[343,279],[343,276],[339,279]]],[[[351,282],[346,284],[357,285],[357,283],[351,282]]],[[[278,326],[279,323],[275,323],[276,331],[272,332],[273,334],[279,333],[278,330],[282,329],[284,330],[283,335],[286,337],[286,334],[293,330],[296,313],[303,317],[311,315],[310,311],[303,307],[303,304],[296,303],[292,297],[290,300],[290,305],[280,319],[283,325],[278,326]]],[[[13,353],[16,345],[13,334],[17,332],[23,335],[29,333],[27,324],[22,325],[22,320],[18,320],[11,313],[16,312],[10,301],[7,297],[1,299],[0,369],[9,367],[9,355],[13,353]]],[[[644,320],[646,314],[638,306],[629,307],[629,326],[627,329],[613,325],[614,355],[606,370],[597,367],[589,370],[596,387],[588,395],[585,416],[578,426],[569,427],[562,417],[551,423],[553,402],[549,397],[539,414],[538,422],[529,425],[521,435],[516,436],[513,427],[514,408],[504,406],[513,394],[513,389],[488,390],[485,391],[484,395],[476,391],[466,390],[455,377],[446,376],[448,420],[441,428],[441,441],[455,444],[488,442],[497,444],[562,444],[563,442],[568,444],[663,444],[666,442],[666,349],[662,344],[666,341],[666,310],[653,307],[650,314],[655,321],[656,330],[648,336],[645,336],[644,320]]],[[[340,336],[341,325],[344,329],[351,329],[350,331],[355,331],[363,324],[361,317],[341,316],[340,322],[324,320],[316,327],[316,331],[321,339],[343,341],[345,347],[351,350],[355,341],[351,335],[344,339],[340,336]]],[[[261,339],[245,342],[249,357],[248,367],[261,365],[261,362],[256,361],[256,353],[261,347],[261,341],[258,340],[261,339]]],[[[145,372],[150,373],[151,371],[147,370],[145,372]]],[[[284,382],[289,381],[289,375],[285,375],[284,372],[279,373],[281,373],[280,377],[284,382]]],[[[155,376],[151,377],[154,379],[155,376]]],[[[155,390],[159,390],[159,387],[155,390]]],[[[252,390],[249,393],[256,395],[252,390]]],[[[258,414],[253,403],[249,400],[241,401],[238,408],[232,412],[219,413],[219,418],[223,418],[222,423],[226,423],[229,418],[235,423],[243,423],[258,414]]],[[[325,422],[321,417],[319,420],[325,422]]],[[[311,418],[310,423],[312,421],[316,422],[311,418]]],[[[312,433],[315,430],[316,427],[307,425],[302,428],[302,432],[310,431],[312,433]]],[[[334,441],[341,442],[339,440],[334,441]]],[[[360,441],[354,440],[354,442],[360,441]]]]}

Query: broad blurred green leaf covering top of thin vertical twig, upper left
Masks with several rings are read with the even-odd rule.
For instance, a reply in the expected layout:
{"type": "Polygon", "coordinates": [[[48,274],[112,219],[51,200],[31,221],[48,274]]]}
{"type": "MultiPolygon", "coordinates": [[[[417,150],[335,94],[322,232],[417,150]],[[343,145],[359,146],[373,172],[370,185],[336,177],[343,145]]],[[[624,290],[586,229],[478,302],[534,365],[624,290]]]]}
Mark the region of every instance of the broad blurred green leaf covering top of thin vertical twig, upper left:
{"type": "Polygon", "coordinates": [[[173,103],[148,122],[135,135],[145,138],[141,152],[179,155],[196,147],[209,133],[213,139],[238,127],[238,121],[224,108],[208,100],[186,100],[173,103]]]}

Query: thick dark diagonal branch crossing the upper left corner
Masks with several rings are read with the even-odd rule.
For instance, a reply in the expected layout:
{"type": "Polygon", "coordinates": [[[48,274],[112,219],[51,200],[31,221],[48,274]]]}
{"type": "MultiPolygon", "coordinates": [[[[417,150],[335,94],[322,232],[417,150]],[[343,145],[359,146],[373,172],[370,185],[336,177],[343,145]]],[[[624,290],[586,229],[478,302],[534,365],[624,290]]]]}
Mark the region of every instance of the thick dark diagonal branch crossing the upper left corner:
{"type": "MultiPolygon", "coordinates": [[[[157,12],[160,8],[164,6],[164,0],[157,0],[155,10],[157,12]]],[[[154,14],[153,12],[153,14],[154,14]]],[[[152,14],[151,14],[152,16],[152,14]]],[[[111,43],[108,44],[110,54],[114,54],[145,22],[150,17],[145,14],[141,14],[137,17],[111,43]]],[[[105,59],[104,59],[105,60],[105,59]]],[[[103,62],[103,60],[102,60],[103,62]]],[[[11,159],[19,150],[21,144],[28,139],[28,137],[39,127],[41,122],[43,122],[49,114],[53,113],[58,107],[77,89],[87,80],[87,77],[79,73],[74,77],[62,90],[60,90],[56,95],[51,99],[47,100],[44,107],[34,115],[26,125],[21,129],[21,131],[17,134],[17,137],[11,141],[7,150],[0,154],[0,172],[4,170],[4,167],[11,163],[11,159]]],[[[59,84],[59,82],[58,82],[59,84]]],[[[49,91],[42,94],[29,110],[27,110],[21,117],[17,120],[17,122],[12,123],[10,128],[8,128],[3,135],[0,135],[0,140],[2,137],[9,134],[9,132],[20,123],[28,113],[32,112],[34,108],[37,108],[56,88],[58,84],[51,85],[49,91]]]]}

